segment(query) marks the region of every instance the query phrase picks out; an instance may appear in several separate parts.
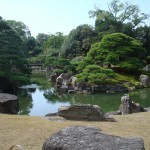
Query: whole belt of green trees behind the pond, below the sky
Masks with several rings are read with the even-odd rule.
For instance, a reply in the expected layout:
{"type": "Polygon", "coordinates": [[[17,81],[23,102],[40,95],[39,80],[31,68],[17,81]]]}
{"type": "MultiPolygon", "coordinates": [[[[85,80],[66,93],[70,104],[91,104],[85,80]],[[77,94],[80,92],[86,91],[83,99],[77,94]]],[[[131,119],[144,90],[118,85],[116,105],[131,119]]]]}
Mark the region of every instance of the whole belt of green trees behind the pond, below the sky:
{"type": "Polygon", "coordinates": [[[136,72],[150,63],[149,15],[137,5],[112,0],[108,10],[95,6],[89,15],[94,27],[83,24],[68,35],[39,33],[36,38],[24,23],[1,19],[1,74],[16,68],[28,76],[29,63],[36,63],[50,74],[72,73],[80,82],[100,84],[116,82],[114,68],[136,72]]]}

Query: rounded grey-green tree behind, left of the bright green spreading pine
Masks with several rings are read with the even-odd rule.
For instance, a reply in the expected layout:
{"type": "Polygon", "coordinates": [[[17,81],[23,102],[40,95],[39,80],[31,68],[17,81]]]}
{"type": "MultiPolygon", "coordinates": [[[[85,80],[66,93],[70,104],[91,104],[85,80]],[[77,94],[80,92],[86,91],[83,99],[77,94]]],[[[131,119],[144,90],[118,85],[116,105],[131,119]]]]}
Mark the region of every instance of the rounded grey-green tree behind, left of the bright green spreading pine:
{"type": "Polygon", "coordinates": [[[95,41],[96,33],[93,27],[87,24],[80,25],[73,29],[65,39],[61,54],[68,58],[84,56],[95,41]]]}

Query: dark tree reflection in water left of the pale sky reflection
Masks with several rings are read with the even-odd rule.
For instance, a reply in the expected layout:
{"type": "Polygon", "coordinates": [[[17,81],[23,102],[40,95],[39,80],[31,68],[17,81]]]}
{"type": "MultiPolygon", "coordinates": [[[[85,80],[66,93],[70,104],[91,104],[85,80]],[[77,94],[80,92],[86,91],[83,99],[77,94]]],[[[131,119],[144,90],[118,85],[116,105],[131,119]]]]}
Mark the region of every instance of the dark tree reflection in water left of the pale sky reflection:
{"type": "Polygon", "coordinates": [[[35,92],[36,88],[32,89],[19,89],[18,98],[19,98],[19,114],[28,115],[33,108],[32,96],[30,92],[35,92]]]}

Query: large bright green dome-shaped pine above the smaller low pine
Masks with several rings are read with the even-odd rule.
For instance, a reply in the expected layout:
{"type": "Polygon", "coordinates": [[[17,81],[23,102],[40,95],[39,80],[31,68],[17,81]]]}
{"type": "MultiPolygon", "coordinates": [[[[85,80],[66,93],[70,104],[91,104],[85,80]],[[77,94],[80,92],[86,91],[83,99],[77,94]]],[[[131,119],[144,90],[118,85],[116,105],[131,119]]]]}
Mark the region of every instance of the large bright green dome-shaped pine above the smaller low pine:
{"type": "MultiPolygon", "coordinates": [[[[130,70],[142,68],[145,58],[141,42],[122,33],[112,33],[105,35],[101,42],[93,44],[85,60],[96,65],[115,65],[130,70]]],[[[85,60],[79,68],[85,67],[83,64],[88,65],[85,60]]]]}

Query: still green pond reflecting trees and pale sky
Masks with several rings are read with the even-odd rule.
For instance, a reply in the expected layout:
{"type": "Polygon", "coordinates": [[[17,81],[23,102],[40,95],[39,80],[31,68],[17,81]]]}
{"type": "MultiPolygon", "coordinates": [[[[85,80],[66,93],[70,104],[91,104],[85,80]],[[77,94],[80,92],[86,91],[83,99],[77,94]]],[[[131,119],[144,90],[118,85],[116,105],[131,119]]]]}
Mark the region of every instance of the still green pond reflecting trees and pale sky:
{"type": "MultiPolygon", "coordinates": [[[[60,106],[71,104],[93,104],[102,107],[104,112],[116,111],[120,105],[121,97],[125,94],[68,94],[57,92],[54,85],[47,83],[46,78],[41,77],[41,79],[43,84],[33,83],[20,87],[18,93],[19,114],[44,116],[57,112],[60,106]]],[[[150,106],[150,88],[136,90],[130,92],[129,95],[134,102],[140,103],[141,106],[150,106]]]]}

